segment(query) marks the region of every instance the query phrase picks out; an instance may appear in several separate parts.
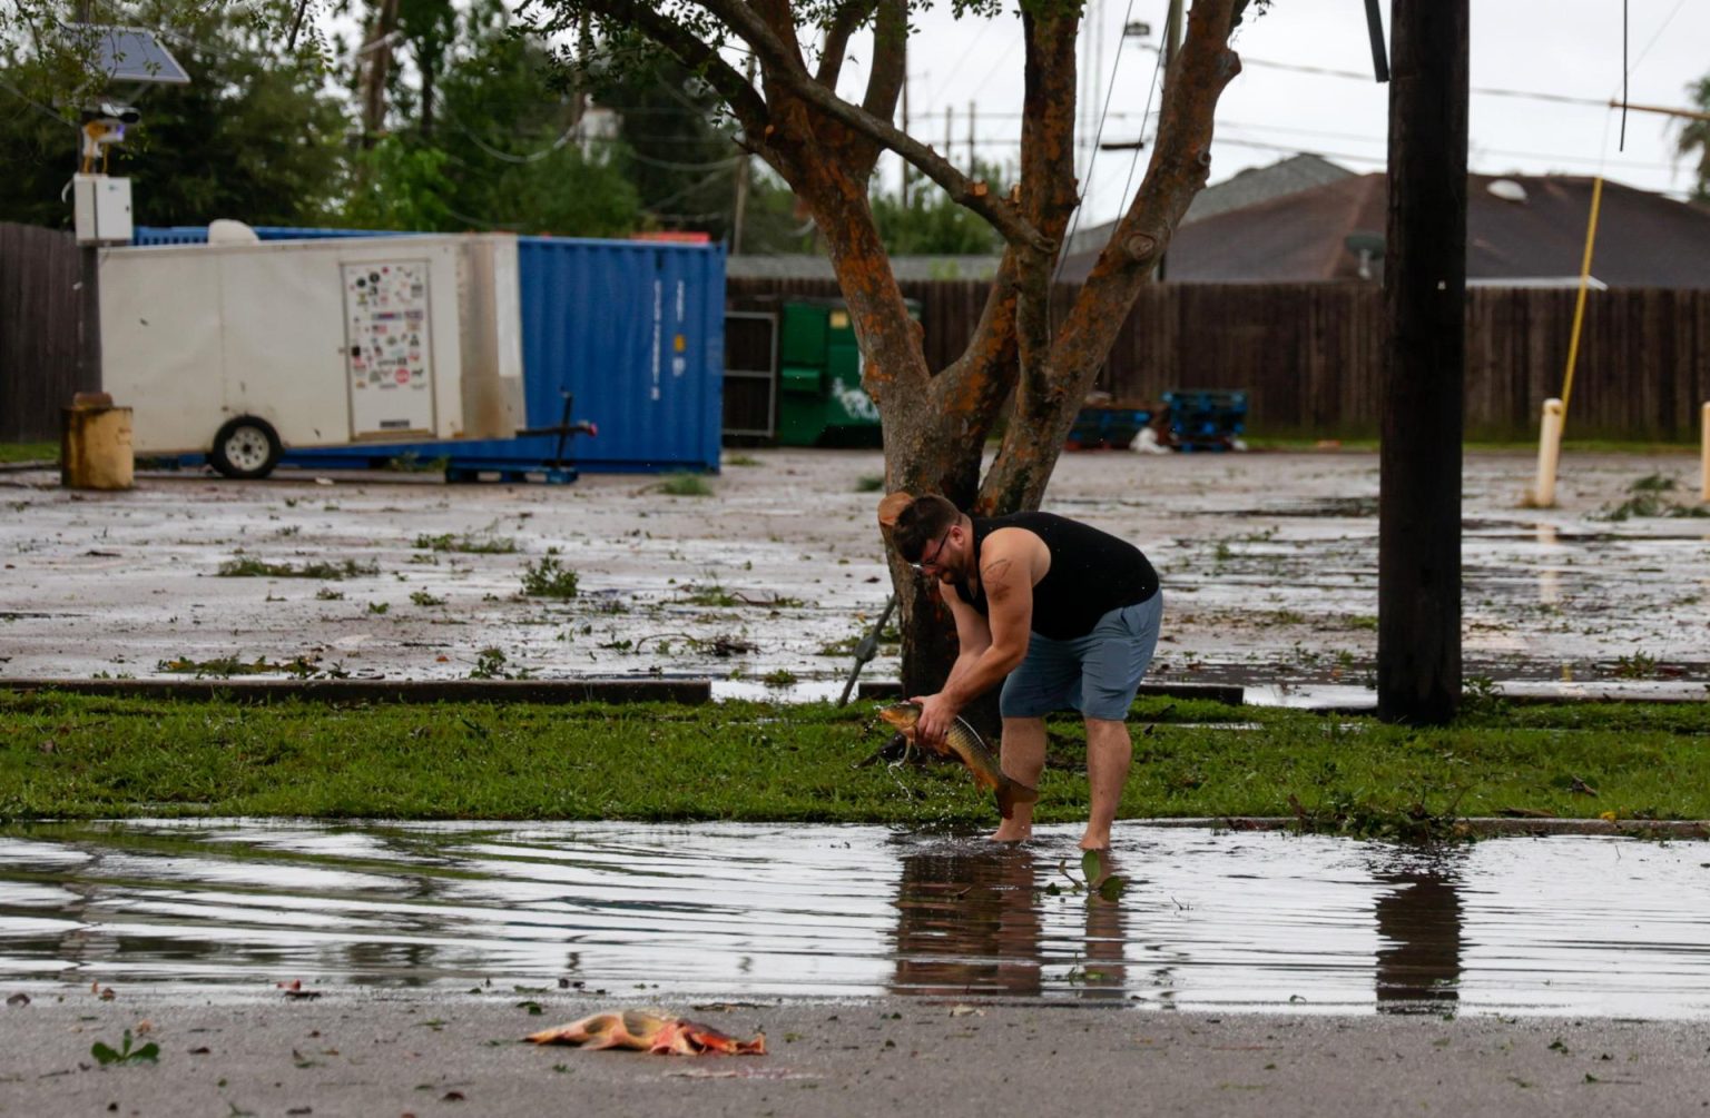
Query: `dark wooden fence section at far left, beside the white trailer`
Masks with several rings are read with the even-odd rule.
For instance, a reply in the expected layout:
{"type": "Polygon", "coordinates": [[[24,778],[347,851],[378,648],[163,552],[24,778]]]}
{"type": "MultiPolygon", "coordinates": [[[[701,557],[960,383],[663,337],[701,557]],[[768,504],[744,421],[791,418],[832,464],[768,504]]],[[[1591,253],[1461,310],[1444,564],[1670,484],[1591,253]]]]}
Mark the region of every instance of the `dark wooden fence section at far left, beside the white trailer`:
{"type": "Polygon", "coordinates": [[[0,222],[0,441],[60,436],[77,385],[77,244],[0,222]]]}

